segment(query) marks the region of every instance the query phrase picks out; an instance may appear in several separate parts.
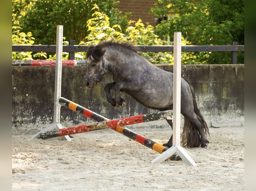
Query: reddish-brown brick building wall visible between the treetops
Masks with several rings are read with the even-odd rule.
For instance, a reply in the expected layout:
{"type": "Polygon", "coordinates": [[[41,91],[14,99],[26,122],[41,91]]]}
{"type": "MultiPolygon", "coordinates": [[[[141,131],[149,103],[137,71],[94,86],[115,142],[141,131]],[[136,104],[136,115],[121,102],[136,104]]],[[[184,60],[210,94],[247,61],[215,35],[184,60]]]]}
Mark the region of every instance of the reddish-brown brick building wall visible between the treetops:
{"type": "MultiPolygon", "coordinates": [[[[116,8],[121,11],[124,10],[133,0],[119,0],[119,5],[116,8]]],[[[155,26],[154,15],[150,14],[150,8],[154,7],[156,0],[136,0],[131,5],[129,5],[123,12],[131,12],[131,20],[138,21],[141,19],[142,22],[149,23],[152,26],[155,26]]]]}

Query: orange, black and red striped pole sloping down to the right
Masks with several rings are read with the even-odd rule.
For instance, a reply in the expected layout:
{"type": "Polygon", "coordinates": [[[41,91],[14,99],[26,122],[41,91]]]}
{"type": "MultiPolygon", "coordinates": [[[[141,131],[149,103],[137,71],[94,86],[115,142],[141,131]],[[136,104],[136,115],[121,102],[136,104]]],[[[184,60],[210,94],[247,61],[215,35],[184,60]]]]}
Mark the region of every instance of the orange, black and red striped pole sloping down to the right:
{"type": "MultiPolygon", "coordinates": [[[[58,99],[58,103],[62,106],[65,106],[73,111],[76,111],[90,119],[93,119],[95,121],[106,121],[106,120],[109,120],[108,118],[102,116],[102,115],[99,115],[98,113],[95,113],[81,105],[78,105],[77,103],[73,102],[73,101],[70,101],[64,97],[60,97],[58,99]]],[[[168,119],[171,119],[171,117],[169,117],[168,119]]],[[[167,150],[167,148],[153,140],[150,140],[142,135],[139,135],[137,134],[136,132],[128,129],[128,128],[125,128],[125,127],[122,127],[122,126],[117,126],[116,128],[111,128],[112,130],[115,130],[137,142],[139,142],[140,144],[143,144],[145,145],[146,147],[148,148],[151,148],[153,150],[155,150],[156,152],[158,153],[163,153],[164,151],[167,150]]]]}

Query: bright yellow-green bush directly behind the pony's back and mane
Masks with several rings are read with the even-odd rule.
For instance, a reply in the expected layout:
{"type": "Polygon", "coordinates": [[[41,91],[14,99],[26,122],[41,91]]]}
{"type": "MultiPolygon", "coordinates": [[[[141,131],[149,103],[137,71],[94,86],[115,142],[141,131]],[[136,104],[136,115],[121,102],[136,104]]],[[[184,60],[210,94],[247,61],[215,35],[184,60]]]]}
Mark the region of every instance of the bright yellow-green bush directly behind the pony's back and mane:
{"type": "MultiPolygon", "coordinates": [[[[109,17],[100,12],[99,7],[95,4],[93,10],[95,13],[92,18],[87,21],[88,31],[90,33],[85,38],[86,41],[81,41],[79,45],[96,45],[103,40],[114,39],[120,42],[129,41],[136,45],[162,45],[161,39],[154,34],[154,27],[151,25],[145,25],[142,20],[139,19],[137,22],[129,21],[129,26],[123,30],[120,25],[113,25],[109,21],[109,17]],[[125,33],[122,33],[125,31],[125,33]]],[[[164,53],[154,52],[142,52],[151,63],[153,64],[171,64],[172,55],[164,53]]],[[[86,53],[81,53],[84,57],[86,53]]]]}

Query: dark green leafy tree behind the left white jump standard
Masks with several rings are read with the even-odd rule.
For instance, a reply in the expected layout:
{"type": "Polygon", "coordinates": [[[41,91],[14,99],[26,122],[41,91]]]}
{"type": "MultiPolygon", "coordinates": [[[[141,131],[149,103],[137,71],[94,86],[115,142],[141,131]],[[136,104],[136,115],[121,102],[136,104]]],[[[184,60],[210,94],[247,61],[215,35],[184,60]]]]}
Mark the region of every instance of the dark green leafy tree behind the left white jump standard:
{"type": "Polygon", "coordinates": [[[12,0],[13,26],[32,31],[35,44],[55,44],[56,26],[63,25],[63,36],[79,43],[88,35],[87,20],[94,13],[94,3],[109,15],[111,23],[127,26],[127,17],[114,8],[115,0],[12,0]]]}

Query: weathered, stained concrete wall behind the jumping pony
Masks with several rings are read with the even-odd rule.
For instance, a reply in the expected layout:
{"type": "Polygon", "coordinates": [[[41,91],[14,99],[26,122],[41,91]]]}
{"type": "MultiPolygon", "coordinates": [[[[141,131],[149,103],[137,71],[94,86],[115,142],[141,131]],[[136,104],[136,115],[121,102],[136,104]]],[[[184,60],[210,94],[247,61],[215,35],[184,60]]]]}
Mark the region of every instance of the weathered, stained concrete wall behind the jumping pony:
{"type": "MultiPolygon", "coordinates": [[[[173,71],[171,65],[158,67],[173,71]]],[[[244,65],[182,65],[181,70],[182,78],[194,86],[198,107],[209,127],[244,125],[244,65]]],[[[52,66],[12,67],[13,133],[36,133],[52,123],[54,73],[52,66]]],[[[106,102],[103,84],[92,90],[85,88],[85,73],[86,66],[63,66],[61,96],[110,119],[155,111],[124,93],[121,95],[126,99],[126,107],[113,107],[106,102]]],[[[109,74],[105,81],[111,81],[109,74]]],[[[92,121],[61,107],[60,122],[68,127],[92,121]]]]}

